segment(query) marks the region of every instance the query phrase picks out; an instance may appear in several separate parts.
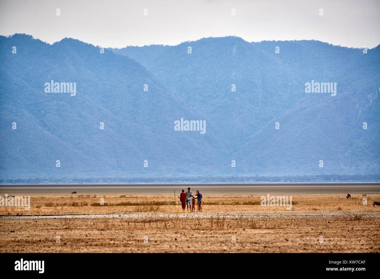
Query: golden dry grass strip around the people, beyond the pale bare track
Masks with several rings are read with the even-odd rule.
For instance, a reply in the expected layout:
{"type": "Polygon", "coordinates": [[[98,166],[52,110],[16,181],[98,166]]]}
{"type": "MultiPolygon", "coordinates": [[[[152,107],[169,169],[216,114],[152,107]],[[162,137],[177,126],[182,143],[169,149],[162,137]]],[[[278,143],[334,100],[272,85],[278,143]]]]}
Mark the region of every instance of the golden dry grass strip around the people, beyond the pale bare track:
{"type": "MultiPolygon", "coordinates": [[[[285,207],[261,207],[260,196],[230,196],[204,194],[202,201],[204,212],[255,212],[255,211],[282,211],[285,207]]],[[[166,195],[98,195],[103,197],[104,205],[97,195],[31,195],[31,208],[25,210],[20,207],[0,207],[0,215],[24,214],[106,214],[126,212],[162,212],[180,213],[180,204],[174,197],[166,195]]],[[[354,197],[355,198],[355,197],[354,197]]],[[[342,195],[329,196],[293,196],[292,211],[298,210],[344,210],[370,211],[378,210],[372,207],[372,202],[380,200],[379,195],[366,196],[369,205],[363,205],[361,199],[346,199],[342,195]]],[[[185,210],[187,212],[187,210],[185,210]]]]}

